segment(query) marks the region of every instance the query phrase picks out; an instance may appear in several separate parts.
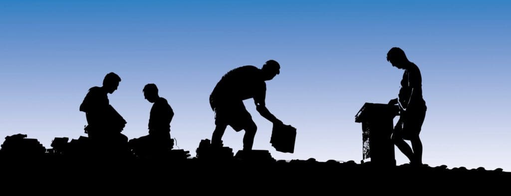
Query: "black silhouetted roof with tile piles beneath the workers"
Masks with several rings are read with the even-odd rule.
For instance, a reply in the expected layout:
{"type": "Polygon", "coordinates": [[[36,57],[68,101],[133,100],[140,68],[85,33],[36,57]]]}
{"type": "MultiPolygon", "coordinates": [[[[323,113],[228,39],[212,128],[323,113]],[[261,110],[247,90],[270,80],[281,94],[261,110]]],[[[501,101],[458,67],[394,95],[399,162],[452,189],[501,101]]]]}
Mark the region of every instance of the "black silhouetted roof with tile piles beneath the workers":
{"type": "Polygon", "coordinates": [[[228,147],[212,149],[207,145],[207,139],[196,149],[196,157],[190,157],[189,151],[184,150],[170,150],[158,157],[109,156],[78,148],[80,139],[68,142],[67,138],[56,138],[52,149],[44,149],[36,139],[28,139],[26,135],[6,137],[0,149],[3,179],[27,185],[42,181],[74,185],[91,182],[118,182],[121,185],[182,183],[257,189],[264,184],[266,188],[312,190],[321,187],[334,191],[358,190],[354,187],[359,186],[373,191],[376,190],[371,189],[374,187],[430,187],[457,191],[483,187],[499,189],[511,180],[509,172],[483,167],[381,166],[371,162],[320,162],[314,158],[275,160],[264,150],[235,154],[228,147]]]}

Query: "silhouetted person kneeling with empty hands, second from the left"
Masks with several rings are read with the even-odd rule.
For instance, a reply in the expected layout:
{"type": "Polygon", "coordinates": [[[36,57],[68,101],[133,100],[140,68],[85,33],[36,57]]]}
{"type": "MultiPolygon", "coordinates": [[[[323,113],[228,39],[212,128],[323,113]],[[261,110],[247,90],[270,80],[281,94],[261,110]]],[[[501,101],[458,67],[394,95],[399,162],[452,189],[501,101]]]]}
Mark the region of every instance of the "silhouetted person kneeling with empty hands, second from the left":
{"type": "Polygon", "coordinates": [[[144,97],[153,103],[149,116],[149,135],[130,141],[130,146],[137,156],[154,157],[168,154],[174,146],[170,138],[170,122],[174,111],[167,100],[158,95],[158,88],[154,83],[144,87],[144,97]]]}

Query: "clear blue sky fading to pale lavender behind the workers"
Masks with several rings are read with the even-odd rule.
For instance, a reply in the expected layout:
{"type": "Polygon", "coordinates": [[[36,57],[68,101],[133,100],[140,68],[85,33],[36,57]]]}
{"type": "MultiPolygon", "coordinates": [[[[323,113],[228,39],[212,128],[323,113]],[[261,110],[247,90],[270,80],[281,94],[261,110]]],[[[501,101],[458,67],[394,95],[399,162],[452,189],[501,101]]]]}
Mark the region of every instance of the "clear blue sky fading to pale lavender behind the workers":
{"type": "MultiPolygon", "coordinates": [[[[254,149],[276,159],[362,158],[365,102],[396,98],[402,70],[386,60],[401,47],[423,76],[428,106],[424,163],[511,171],[511,3],[508,1],[2,1],[0,142],[16,133],[47,148],[86,135],[78,110],[108,72],[122,78],[110,103],[129,138],[147,134],[155,83],[175,116],[171,135],[195,156],[211,138],[208,96],[227,71],[278,61],[267,106],[297,128],[295,153],[271,147],[271,123],[254,149]]],[[[397,119],[394,119],[396,122],[397,119]]],[[[224,144],[242,149],[230,127],[224,144]]],[[[408,160],[396,148],[398,164],[408,160]]]]}

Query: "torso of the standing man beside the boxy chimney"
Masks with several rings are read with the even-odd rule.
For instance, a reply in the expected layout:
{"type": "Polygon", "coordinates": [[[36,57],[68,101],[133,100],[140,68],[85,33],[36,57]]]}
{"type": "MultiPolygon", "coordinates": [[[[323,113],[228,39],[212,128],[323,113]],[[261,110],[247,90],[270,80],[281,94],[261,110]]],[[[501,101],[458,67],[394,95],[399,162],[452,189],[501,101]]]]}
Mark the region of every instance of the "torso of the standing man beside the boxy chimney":
{"type": "Polygon", "coordinates": [[[408,69],[403,73],[401,80],[401,89],[399,90],[399,101],[404,108],[408,108],[408,103],[411,109],[423,109],[426,102],[422,97],[422,76],[419,67],[411,63],[408,69]],[[412,93],[413,89],[413,93],[412,93]],[[411,96],[410,96],[411,95],[411,96]]]}

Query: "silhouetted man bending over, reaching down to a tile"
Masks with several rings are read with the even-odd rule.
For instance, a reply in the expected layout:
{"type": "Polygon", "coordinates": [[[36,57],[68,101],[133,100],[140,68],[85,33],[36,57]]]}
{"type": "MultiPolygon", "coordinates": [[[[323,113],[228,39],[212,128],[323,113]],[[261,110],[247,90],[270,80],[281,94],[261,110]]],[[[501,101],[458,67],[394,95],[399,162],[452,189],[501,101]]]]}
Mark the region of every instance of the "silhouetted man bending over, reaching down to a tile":
{"type": "Polygon", "coordinates": [[[259,114],[276,125],[282,121],[273,116],[266,108],[266,83],[280,73],[281,66],[269,60],[262,69],[247,65],[227,72],[217,83],[210,95],[210,105],[215,111],[215,131],[211,139],[212,147],[222,146],[222,136],[227,125],[235,131],[245,130],[243,150],[252,150],[257,126],[252,121],[243,100],[253,98],[259,114]]]}

